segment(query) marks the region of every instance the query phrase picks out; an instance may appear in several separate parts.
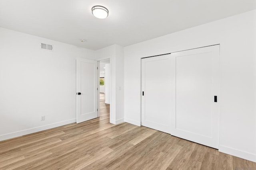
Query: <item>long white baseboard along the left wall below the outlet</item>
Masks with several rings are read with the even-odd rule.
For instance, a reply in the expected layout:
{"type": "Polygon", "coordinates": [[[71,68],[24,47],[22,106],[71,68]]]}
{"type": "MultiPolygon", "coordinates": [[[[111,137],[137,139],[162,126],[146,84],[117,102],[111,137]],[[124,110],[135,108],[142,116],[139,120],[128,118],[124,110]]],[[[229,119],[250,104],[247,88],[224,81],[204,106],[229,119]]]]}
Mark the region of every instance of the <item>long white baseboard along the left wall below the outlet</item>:
{"type": "Polygon", "coordinates": [[[6,139],[11,139],[11,138],[14,138],[14,137],[20,137],[20,136],[23,136],[23,135],[28,135],[30,133],[36,133],[36,132],[44,131],[44,130],[47,130],[47,129],[52,129],[54,127],[59,127],[59,126],[67,125],[67,124],[74,123],[74,122],[76,122],[76,118],[65,120],[65,121],[60,121],[60,122],[57,122],[57,123],[52,123],[52,124],[49,124],[49,125],[43,125],[43,126],[39,126],[39,127],[25,129],[25,130],[22,130],[22,131],[17,131],[17,132],[13,132],[13,133],[0,135],[0,141],[4,141],[6,139]]]}

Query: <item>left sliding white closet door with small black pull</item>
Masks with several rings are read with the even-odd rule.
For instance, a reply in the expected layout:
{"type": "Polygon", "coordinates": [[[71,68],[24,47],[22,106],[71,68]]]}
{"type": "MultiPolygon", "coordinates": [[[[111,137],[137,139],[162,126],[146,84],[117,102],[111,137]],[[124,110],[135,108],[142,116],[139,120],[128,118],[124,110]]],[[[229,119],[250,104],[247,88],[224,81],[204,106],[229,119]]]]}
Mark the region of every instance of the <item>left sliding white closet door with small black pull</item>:
{"type": "Polygon", "coordinates": [[[142,126],[170,133],[170,55],[142,59],[142,126]]]}

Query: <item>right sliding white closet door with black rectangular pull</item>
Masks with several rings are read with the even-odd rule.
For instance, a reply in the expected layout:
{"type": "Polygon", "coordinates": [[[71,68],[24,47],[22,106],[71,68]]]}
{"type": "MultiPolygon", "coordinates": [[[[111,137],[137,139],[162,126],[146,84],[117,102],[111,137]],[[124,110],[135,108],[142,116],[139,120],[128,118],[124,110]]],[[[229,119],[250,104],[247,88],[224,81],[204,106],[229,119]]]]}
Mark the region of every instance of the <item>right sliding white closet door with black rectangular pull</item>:
{"type": "Polygon", "coordinates": [[[219,45],[171,54],[171,134],[218,149],[219,45]]]}

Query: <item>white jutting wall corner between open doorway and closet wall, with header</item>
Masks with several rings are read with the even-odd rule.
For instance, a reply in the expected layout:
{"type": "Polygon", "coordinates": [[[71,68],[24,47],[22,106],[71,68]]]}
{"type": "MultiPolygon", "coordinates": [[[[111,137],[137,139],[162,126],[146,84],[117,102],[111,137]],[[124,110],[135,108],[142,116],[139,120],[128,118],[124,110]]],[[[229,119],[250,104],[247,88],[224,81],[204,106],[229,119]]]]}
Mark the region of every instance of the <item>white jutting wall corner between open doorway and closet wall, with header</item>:
{"type": "Polygon", "coordinates": [[[97,50],[95,59],[110,59],[110,123],[121,123],[124,121],[124,47],[111,45],[97,50]]]}

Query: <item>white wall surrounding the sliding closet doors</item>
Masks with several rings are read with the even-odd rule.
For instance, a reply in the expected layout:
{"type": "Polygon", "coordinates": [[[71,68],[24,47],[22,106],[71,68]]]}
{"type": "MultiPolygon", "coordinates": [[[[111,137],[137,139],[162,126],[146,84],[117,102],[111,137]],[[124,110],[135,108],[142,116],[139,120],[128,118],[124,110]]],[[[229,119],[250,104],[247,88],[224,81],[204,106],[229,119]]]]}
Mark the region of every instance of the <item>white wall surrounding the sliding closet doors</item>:
{"type": "Polygon", "coordinates": [[[140,59],[220,44],[220,151],[256,162],[256,10],[124,48],[124,117],[140,125],[140,59]]]}

